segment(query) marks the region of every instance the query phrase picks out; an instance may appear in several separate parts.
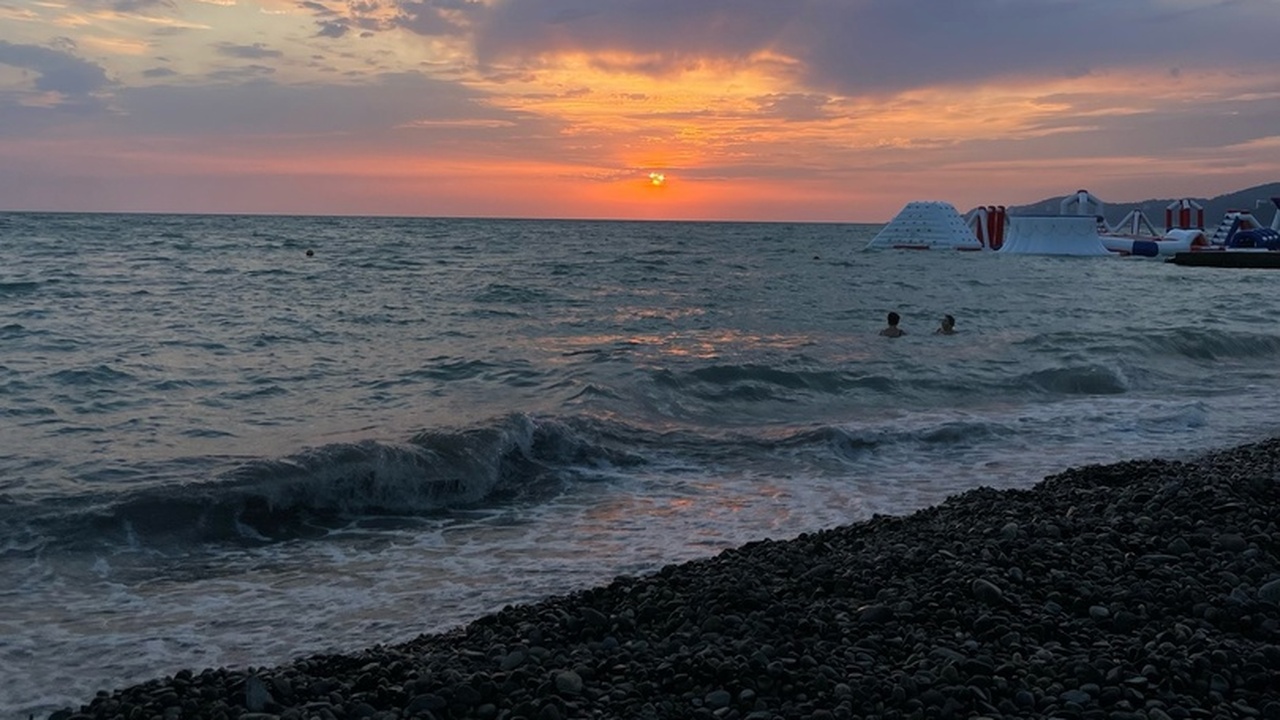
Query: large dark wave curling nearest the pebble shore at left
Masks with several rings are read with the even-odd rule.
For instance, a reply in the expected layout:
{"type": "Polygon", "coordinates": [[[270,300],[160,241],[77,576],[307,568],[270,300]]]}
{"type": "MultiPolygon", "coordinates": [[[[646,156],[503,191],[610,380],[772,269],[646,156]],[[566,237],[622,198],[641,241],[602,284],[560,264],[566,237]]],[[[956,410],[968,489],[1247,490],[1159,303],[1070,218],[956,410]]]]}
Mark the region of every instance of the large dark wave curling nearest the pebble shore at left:
{"type": "MultiPolygon", "coordinates": [[[[568,482],[644,461],[602,439],[603,429],[591,420],[513,415],[483,427],[422,432],[398,443],[325,445],[255,460],[205,483],[99,497],[77,509],[22,509],[0,521],[0,533],[29,538],[32,524],[14,527],[14,520],[36,515],[37,534],[83,548],[104,541],[129,547],[262,542],[323,536],[367,516],[538,501],[568,482]]],[[[20,546],[35,547],[29,541],[20,546]]]]}

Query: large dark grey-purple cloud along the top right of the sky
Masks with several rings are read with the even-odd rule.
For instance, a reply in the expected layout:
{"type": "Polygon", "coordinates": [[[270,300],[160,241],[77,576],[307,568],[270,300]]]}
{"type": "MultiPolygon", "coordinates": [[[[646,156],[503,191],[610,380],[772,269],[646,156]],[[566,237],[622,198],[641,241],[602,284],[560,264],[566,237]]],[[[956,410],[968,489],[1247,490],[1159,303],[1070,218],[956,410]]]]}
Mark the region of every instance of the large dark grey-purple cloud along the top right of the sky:
{"type": "Polygon", "coordinates": [[[668,73],[700,59],[776,50],[813,88],[878,94],[1015,74],[1083,77],[1138,65],[1280,61],[1276,4],[1171,12],[1162,0],[508,0],[477,18],[493,64],[557,51],[626,51],[628,69],[668,73]]]}

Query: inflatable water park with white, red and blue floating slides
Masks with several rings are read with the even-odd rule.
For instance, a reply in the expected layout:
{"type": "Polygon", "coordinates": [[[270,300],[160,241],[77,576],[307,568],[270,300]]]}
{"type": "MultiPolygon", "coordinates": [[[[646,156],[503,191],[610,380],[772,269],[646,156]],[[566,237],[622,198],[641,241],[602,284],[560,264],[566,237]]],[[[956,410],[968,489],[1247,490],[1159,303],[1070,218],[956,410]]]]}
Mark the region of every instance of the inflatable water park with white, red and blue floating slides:
{"type": "Polygon", "coordinates": [[[1280,197],[1271,202],[1275,217],[1270,225],[1249,210],[1230,210],[1208,228],[1198,202],[1175,200],[1165,209],[1165,229],[1160,232],[1142,210],[1108,225],[1102,201],[1087,190],[1062,199],[1057,215],[1014,214],[1004,205],[960,215],[950,202],[913,201],[867,249],[1138,256],[1185,265],[1280,268],[1280,197]],[[1252,258],[1240,256],[1245,254],[1252,258]]]}

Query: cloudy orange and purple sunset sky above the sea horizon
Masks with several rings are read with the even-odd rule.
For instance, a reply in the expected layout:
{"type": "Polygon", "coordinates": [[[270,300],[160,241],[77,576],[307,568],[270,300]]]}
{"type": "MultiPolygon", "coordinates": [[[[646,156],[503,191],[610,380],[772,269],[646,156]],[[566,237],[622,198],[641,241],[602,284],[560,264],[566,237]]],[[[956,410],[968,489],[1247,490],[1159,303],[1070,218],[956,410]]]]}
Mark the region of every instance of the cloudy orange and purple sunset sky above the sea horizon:
{"type": "Polygon", "coordinates": [[[1280,0],[0,0],[0,210],[884,222],[1280,181],[1280,0]]]}

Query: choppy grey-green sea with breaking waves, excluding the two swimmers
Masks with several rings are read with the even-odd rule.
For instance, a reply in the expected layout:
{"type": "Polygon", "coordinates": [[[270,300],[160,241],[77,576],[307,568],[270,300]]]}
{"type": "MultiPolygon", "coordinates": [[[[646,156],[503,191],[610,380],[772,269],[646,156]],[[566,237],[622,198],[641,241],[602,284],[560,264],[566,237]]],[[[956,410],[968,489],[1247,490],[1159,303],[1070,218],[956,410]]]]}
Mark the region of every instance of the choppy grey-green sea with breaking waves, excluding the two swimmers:
{"type": "Polygon", "coordinates": [[[879,227],[0,214],[0,717],[1280,434],[1280,274],[879,227]]]}

